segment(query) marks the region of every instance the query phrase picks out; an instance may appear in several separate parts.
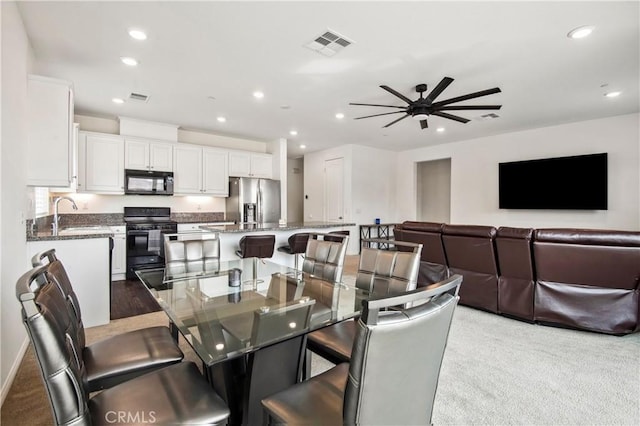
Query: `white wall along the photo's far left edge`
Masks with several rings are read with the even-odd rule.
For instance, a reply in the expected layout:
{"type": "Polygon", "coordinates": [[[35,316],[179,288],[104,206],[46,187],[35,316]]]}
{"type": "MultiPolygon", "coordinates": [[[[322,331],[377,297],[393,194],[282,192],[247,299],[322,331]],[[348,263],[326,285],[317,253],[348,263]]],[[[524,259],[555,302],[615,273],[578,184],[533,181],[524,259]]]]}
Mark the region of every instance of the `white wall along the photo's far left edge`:
{"type": "Polygon", "coordinates": [[[33,57],[15,3],[2,2],[2,146],[0,171],[0,380],[2,401],[26,349],[27,338],[15,296],[17,279],[28,270],[26,135],[27,73],[33,57]]]}

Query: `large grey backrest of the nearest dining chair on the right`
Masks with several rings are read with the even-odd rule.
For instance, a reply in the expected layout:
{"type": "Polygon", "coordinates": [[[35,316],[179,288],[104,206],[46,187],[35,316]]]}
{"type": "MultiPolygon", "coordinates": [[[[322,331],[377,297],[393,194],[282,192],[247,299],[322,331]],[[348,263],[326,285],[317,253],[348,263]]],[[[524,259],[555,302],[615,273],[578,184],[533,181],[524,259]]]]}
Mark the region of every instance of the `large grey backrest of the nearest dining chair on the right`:
{"type": "Polygon", "coordinates": [[[455,275],[435,289],[363,303],[344,394],[344,424],[431,423],[461,282],[455,275]],[[401,305],[414,306],[385,310],[401,305]]]}

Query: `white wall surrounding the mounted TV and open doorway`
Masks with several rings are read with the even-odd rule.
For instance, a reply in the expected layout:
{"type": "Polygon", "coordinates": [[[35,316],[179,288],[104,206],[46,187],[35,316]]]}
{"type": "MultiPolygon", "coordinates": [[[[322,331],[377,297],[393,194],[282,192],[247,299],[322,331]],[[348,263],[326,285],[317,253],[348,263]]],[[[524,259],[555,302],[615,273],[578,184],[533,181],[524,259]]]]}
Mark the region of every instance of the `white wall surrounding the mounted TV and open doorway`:
{"type": "Polygon", "coordinates": [[[640,230],[639,115],[629,114],[405,151],[396,220],[416,218],[416,163],[451,158],[451,223],[640,230]],[[607,152],[609,209],[498,209],[498,163],[607,152]]]}

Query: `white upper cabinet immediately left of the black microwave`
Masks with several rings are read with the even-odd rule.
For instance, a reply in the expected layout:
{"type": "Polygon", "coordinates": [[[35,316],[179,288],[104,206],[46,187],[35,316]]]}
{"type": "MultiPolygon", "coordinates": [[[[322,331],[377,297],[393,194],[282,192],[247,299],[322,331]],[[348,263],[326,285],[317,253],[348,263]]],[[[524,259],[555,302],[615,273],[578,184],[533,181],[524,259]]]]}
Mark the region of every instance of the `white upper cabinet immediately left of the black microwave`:
{"type": "Polygon", "coordinates": [[[78,192],[124,194],[124,139],[79,132],[78,192]]]}

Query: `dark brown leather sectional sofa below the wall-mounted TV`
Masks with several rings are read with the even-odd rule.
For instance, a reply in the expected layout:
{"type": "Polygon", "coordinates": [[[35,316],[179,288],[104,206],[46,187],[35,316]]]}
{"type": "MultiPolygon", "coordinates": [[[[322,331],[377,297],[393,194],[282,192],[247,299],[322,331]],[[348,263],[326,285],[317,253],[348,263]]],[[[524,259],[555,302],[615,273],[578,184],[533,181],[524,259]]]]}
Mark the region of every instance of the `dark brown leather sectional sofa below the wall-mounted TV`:
{"type": "Polygon", "coordinates": [[[461,304],[601,333],[640,328],[640,232],[407,221],[394,236],[424,245],[419,286],[464,277],[461,304]]]}

